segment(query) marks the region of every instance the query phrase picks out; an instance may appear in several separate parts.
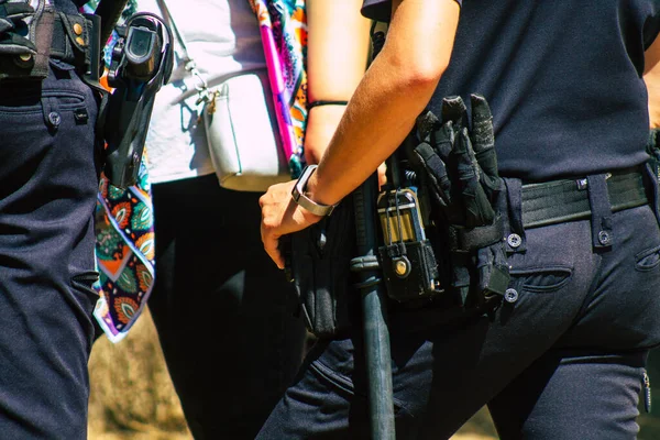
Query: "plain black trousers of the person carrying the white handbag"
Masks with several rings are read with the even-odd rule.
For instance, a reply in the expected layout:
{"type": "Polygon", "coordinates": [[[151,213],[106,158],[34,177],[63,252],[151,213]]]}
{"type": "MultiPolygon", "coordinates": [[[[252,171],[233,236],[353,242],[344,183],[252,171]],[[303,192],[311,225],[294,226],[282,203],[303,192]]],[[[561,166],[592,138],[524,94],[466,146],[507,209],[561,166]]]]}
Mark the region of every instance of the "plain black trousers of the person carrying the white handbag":
{"type": "Polygon", "coordinates": [[[258,197],[215,175],[153,185],[148,307],[197,440],[254,439],[302,358],[305,327],[263,249],[258,197]]]}

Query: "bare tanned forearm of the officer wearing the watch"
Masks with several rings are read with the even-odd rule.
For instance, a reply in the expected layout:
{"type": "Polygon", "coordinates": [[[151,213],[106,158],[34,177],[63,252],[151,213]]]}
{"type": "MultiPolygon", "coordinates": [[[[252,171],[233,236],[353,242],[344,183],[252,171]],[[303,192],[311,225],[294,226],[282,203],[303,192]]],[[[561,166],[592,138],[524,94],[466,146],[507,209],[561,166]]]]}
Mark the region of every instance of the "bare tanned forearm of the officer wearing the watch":
{"type": "Polygon", "coordinates": [[[396,8],[383,51],[309,180],[314,200],[338,202],[400,145],[447,68],[459,11],[453,0],[404,0],[396,8]],[[429,34],[438,38],[421,38],[429,34]]]}

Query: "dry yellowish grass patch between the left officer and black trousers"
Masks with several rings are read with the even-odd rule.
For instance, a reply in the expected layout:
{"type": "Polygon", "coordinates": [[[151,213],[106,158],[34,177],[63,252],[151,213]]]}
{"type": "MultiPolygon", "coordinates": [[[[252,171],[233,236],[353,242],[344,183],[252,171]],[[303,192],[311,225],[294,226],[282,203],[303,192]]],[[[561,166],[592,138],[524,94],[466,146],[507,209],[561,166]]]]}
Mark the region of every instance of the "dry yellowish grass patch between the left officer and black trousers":
{"type": "Polygon", "coordinates": [[[191,439],[148,310],[120,343],[101,337],[89,367],[90,440],[191,439]]]}

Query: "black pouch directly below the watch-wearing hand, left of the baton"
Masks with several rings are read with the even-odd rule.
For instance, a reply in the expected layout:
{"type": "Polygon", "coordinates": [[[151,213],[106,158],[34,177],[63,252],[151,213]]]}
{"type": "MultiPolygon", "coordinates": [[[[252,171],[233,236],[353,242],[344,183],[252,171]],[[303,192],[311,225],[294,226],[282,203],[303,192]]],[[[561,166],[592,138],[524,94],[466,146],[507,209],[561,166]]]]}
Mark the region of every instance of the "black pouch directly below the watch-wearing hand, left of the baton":
{"type": "Polygon", "coordinates": [[[350,271],[355,219],[349,196],[332,216],[287,235],[286,272],[300,300],[307,330],[320,339],[346,334],[359,304],[350,271]]]}

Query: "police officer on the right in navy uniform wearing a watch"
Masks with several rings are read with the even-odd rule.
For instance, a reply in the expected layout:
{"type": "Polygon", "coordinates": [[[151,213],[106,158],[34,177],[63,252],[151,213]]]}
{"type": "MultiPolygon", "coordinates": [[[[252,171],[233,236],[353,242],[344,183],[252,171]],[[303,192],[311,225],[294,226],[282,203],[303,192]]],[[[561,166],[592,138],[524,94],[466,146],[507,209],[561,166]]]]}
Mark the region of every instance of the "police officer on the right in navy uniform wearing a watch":
{"type": "MultiPolygon", "coordinates": [[[[448,439],[487,405],[503,439],[636,438],[660,343],[644,81],[660,69],[660,1],[365,0],[363,13],[389,22],[385,46],[301,183],[311,210],[294,183],[261,199],[265,250],[283,267],[279,238],[367,178],[429,101],[440,114],[443,97],[482,94],[510,282],[491,316],[391,311],[396,436],[448,439]]],[[[314,349],[258,439],[369,438],[359,333],[314,349]]]]}

